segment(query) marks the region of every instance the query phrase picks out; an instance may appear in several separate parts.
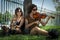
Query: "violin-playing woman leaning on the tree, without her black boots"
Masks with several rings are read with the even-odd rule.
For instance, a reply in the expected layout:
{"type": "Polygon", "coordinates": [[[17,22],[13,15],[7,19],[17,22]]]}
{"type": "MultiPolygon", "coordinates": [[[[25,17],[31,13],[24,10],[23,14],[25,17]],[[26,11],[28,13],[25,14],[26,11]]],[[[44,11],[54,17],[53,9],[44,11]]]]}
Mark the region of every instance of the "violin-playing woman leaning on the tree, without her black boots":
{"type": "Polygon", "coordinates": [[[36,12],[37,12],[36,5],[32,4],[28,7],[28,15],[25,19],[25,33],[29,33],[32,35],[35,34],[48,35],[49,34],[48,31],[39,28],[38,24],[41,23],[43,26],[45,26],[51,17],[49,16],[46,22],[44,23],[41,20],[35,20],[35,18],[33,18],[33,15],[36,12]]]}

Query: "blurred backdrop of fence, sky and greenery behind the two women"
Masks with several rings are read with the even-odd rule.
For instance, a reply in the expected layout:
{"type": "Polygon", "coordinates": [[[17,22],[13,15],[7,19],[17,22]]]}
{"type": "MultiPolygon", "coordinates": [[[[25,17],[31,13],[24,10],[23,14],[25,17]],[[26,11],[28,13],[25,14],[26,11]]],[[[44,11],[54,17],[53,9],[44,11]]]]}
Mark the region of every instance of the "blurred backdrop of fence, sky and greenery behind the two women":
{"type": "MultiPolygon", "coordinates": [[[[20,7],[26,16],[27,7],[30,4],[37,5],[40,13],[44,12],[47,15],[55,16],[55,19],[49,20],[48,26],[60,26],[60,0],[0,0],[0,27],[2,25],[10,26],[17,7],[20,7]]],[[[42,21],[45,22],[46,19],[42,19],[42,21]]]]}

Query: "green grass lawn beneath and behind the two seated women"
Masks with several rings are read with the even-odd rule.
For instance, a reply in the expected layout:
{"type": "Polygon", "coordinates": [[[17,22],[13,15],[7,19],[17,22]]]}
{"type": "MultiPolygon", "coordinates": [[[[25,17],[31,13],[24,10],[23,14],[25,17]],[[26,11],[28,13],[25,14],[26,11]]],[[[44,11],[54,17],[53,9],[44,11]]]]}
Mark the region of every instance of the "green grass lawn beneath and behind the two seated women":
{"type": "MultiPolygon", "coordinates": [[[[45,30],[57,29],[60,32],[60,26],[44,26],[41,28],[45,30]]],[[[0,33],[0,40],[46,40],[46,37],[47,36],[43,36],[43,35],[22,35],[22,34],[1,36],[0,33]]],[[[53,39],[53,40],[57,40],[57,39],[53,39]]],[[[58,40],[60,40],[60,36],[58,40]]]]}

